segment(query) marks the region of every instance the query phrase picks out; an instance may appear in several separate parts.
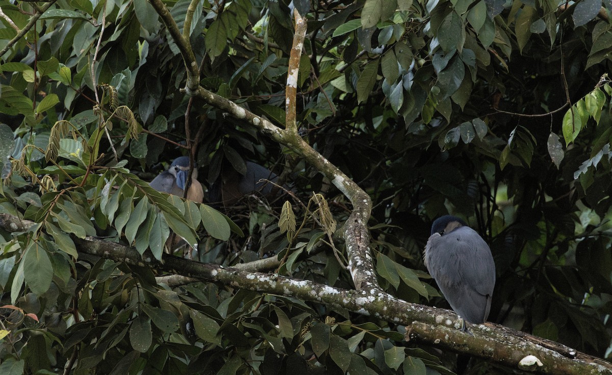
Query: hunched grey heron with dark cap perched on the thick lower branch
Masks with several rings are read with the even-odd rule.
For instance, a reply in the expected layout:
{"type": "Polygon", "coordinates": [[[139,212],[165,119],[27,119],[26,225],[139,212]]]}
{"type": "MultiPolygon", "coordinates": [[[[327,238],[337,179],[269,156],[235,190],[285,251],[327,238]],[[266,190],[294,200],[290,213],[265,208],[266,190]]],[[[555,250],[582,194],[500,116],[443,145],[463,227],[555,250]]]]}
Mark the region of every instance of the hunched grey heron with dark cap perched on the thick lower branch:
{"type": "Polygon", "coordinates": [[[460,218],[446,215],[431,225],[425,266],[450,307],[465,322],[481,324],[491,310],[495,263],[485,240],[460,218]]]}

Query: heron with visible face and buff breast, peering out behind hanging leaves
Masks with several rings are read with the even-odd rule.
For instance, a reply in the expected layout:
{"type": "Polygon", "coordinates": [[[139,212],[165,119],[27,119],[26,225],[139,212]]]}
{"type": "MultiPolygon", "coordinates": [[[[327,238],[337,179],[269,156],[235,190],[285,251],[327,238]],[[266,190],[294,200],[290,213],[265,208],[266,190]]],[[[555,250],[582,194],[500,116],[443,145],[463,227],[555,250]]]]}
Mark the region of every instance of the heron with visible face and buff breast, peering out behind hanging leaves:
{"type": "MultiPolygon", "coordinates": [[[[174,159],[167,171],[160,173],[149,184],[157,191],[165,191],[181,198],[184,196],[187,176],[189,174],[189,157],[182,156],[174,159]]],[[[193,168],[191,184],[187,190],[187,199],[202,202],[204,190],[198,182],[198,169],[193,168]]]]}

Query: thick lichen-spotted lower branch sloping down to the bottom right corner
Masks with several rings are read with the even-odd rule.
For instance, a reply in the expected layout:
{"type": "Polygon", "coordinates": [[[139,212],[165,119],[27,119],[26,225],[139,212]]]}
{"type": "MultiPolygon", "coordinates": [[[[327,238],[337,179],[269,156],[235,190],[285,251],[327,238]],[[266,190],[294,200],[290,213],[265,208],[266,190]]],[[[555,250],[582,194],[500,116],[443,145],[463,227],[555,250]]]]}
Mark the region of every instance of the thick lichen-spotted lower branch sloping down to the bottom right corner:
{"type": "MultiPolygon", "coordinates": [[[[23,232],[32,225],[32,221],[20,220],[6,213],[0,214],[0,228],[6,231],[23,232]]],[[[176,277],[181,279],[179,282],[185,281],[183,277],[190,277],[235,288],[326,303],[355,313],[376,316],[384,321],[406,325],[406,340],[468,353],[510,368],[518,369],[521,360],[531,355],[542,363],[542,366],[536,365],[537,373],[612,374],[612,364],[599,358],[501,325],[472,325],[470,330],[474,335],[470,335],[459,330],[460,319],[452,311],[408,303],[383,291],[350,291],[309,280],[204,264],[169,254],[163,254],[162,260],[157,261],[153,256],[147,256],[147,253],[144,257],[140,256],[134,248],[119,243],[95,237],[79,239],[72,236],[72,239],[81,253],[182,275],[176,277]]],[[[172,278],[168,282],[173,282],[172,278]]]]}

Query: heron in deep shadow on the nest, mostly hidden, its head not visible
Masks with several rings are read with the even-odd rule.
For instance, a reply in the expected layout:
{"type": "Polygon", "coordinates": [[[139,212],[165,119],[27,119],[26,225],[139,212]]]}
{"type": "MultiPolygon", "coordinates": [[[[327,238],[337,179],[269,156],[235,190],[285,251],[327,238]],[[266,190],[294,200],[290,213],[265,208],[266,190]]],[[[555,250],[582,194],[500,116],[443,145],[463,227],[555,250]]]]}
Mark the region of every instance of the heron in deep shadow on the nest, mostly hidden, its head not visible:
{"type": "Polygon", "coordinates": [[[244,176],[234,169],[221,174],[208,190],[209,202],[231,206],[243,196],[252,193],[260,193],[263,196],[269,196],[272,193],[274,184],[268,181],[277,182],[278,176],[257,163],[245,162],[245,165],[247,172],[244,176]]]}

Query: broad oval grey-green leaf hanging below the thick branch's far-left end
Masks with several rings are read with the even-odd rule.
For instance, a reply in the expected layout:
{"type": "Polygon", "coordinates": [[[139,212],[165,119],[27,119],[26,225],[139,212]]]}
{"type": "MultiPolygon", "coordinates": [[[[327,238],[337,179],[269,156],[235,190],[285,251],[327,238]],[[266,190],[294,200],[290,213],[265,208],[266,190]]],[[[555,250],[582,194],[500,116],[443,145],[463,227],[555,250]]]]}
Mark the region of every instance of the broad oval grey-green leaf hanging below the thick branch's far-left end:
{"type": "Polygon", "coordinates": [[[23,256],[24,278],[28,287],[37,295],[45,293],[51,286],[53,267],[47,254],[38,242],[32,241],[23,256]]]}

